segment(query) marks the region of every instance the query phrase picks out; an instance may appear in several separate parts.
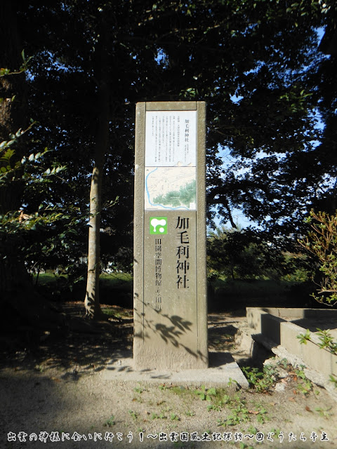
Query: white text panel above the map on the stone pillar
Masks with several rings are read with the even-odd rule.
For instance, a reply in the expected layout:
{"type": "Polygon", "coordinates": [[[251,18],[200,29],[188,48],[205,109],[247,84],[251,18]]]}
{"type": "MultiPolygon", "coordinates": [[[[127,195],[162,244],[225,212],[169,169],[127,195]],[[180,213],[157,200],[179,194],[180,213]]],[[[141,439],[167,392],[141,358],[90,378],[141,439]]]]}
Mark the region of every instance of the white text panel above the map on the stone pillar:
{"type": "Polygon", "coordinates": [[[147,111],[145,166],[195,167],[197,111],[147,111]]]}

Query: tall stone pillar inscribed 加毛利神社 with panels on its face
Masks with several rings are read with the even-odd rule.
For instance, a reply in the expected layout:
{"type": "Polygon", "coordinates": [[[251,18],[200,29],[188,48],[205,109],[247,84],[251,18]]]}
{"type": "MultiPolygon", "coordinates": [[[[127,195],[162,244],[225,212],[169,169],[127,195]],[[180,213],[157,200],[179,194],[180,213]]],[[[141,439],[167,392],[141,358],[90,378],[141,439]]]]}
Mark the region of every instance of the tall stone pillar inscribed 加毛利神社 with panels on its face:
{"type": "Polygon", "coordinates": [[[207,368],[206,105],[136,107],[134,367],[207,368]]]}

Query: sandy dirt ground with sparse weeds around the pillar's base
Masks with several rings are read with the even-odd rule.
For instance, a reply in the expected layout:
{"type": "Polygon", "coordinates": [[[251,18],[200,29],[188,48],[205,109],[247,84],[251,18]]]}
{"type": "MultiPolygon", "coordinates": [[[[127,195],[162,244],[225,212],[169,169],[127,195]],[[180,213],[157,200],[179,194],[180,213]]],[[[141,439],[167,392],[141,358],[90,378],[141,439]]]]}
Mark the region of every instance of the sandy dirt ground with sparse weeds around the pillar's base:
{"type": "MultiPolygon", "coordinates": [[[[82,303],[62,307],[84,312],[82,303]]],[[[267,361],[263,382],[247,368],[248,390],[103,380],[133,333],[132,311],[105,308],[114,316],[100,330],[27,330],[27,347],[13,336],[1,354],[1,449],[337,447],[337,403],[286,360],[267,361]]],[[[244,311],[209,315],[209,350],[230,351],[241,367],[262,363],[272,354],[252,361],[236,344],[244,326],[244,311]]]]}

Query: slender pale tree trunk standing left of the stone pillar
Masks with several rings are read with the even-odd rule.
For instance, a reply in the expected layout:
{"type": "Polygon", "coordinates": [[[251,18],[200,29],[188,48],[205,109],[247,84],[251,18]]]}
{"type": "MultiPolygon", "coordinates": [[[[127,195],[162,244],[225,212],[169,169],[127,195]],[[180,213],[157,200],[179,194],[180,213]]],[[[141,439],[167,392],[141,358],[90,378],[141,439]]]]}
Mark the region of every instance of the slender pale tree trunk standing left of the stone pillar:
{"type": "MultiPolygon", "coordinates": [[[[103,27],[104,29],[104,27],[103,27]]],[[[110,123],[110,88],[107,73],[107,52],[104,48],[106,34],[103,32],[103,42],[100,42],[100,61],[98,71],[100,84],[98,86],[98,128],[95,139],[95,166],[91,177],[90,188],[90,221],[88,232],[88,279],[86,283],[86,316],[99,319],[100,310],[100,220],[102,207],[102,180],[105,152],[109,142],[110,123]]]]}

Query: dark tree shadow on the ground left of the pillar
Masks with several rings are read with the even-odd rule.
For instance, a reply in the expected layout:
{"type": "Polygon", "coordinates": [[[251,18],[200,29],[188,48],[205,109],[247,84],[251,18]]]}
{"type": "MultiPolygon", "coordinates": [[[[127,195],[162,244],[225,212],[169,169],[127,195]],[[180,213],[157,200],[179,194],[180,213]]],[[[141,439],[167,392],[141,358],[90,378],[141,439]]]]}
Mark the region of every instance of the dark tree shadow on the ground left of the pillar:
{"type": "Polygon", "coordinates": [[[115,351],[121,347],[131,349],[132,319],[110,318],[110,321],[91,325],[84,318],[83,302],[65,303],[60,307],[72,318],[71,326],[48,331],[27,326],[1,335],[2,368],[40,372],[55,368],[71,370],[71,373],[84,369],[98,371],[104,368],[115,351]]]}

